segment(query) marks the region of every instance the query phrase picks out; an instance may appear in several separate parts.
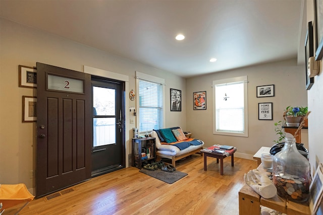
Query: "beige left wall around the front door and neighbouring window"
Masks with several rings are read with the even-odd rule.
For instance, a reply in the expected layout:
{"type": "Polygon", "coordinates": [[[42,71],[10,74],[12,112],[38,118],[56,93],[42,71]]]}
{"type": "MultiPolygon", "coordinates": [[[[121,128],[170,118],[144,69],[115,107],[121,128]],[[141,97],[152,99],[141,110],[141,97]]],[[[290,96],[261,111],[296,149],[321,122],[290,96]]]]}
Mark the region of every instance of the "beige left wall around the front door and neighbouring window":
{"type": "MultiPolygon", "coordinates": [[[[129,76],[130,90],[136,89],[136,70],[164,78],[165,126],[178,125],[186,129],[185,108],[181,112],[170,111],[170,88],[182,90],[182,105],[186,106],[185,79],[56,35],[8,20],[0,21],[0,184],[25,183],[28,188],[35,187],[35,180],[29,178],[29,171],[36,169],[36,123],[22,123],[21,115],[22,96],[36,96],[36,90],[18,87],[19,64],[36,66],[38,61],[77,71],[83,71],[84,65],[109,70],[129,76]]],[[[131,152],[129,136],[132,137],[132,127],[135,126],[129,124],[129,107],[136,107],[136,101],[130,101],[129,92],[126,94],[127,154],[129,154],[131,152]]]]}

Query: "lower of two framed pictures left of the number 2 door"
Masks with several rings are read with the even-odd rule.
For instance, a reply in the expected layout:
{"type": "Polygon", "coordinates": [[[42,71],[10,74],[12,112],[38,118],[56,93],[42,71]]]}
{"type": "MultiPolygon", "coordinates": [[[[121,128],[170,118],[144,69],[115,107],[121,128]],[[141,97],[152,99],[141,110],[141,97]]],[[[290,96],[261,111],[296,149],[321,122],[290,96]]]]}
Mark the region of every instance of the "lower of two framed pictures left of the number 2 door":
{"type": "Polygon", "coordinates": [[[37,104],[36,97],[22,96],[22,122],[37,121],[36,104],[37,104]]]}

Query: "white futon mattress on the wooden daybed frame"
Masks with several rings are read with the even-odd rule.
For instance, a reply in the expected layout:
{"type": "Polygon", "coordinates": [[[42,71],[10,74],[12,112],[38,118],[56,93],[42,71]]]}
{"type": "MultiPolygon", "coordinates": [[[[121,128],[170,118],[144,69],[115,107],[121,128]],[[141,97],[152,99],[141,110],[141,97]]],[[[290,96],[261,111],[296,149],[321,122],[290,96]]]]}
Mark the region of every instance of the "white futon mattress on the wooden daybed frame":
{"type": "Polygon", "coordinates": [[[151,131],[150,135],[152,137],[156,138],[156,149],[158,153],[164,154],[164,155],[170,155],[170,156],[179,156],[179,155],[183,155],[186,154],[188,152],[191,152],[193,150],[196,150],[200,147],[202,147],[204,145],[204,142],[202,141],[201,145],[198,146],[190,146],[184,150],[180,150],[178,147],[173,146],[173,145],[166,145],[166,144],[160,144],[160,139],[158,137],[158,134],[156,133],[156,131],[151,131]]]}

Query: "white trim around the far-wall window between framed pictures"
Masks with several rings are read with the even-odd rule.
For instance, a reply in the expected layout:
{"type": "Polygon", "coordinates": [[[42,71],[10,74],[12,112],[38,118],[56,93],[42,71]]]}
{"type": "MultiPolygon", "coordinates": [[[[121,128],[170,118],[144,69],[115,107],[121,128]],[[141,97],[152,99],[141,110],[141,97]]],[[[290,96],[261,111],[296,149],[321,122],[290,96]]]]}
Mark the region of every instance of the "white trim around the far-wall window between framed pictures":
{"type": "Polygon", "coordinates": [[[213,107],[212,107],[212,113],[213,113],[213,134],[219,134],[219,135],[230,135],[230,136],[243,136],[248,137],[248,76],[240,76],[235,78],[229,78],[229,79],[222,79],[222,80],[216,80],[212,82],[212,88],[213,88],[213,107]],[[228,83],[234,83],[234,82],[243,82],[243,89],[244,89],[244,132],[243,133],[237,133],[237,132],[224,132],[224,131],[217,131],[217,123],[216,123],[216,85],[221,84],[228,84],[228,83]]]}

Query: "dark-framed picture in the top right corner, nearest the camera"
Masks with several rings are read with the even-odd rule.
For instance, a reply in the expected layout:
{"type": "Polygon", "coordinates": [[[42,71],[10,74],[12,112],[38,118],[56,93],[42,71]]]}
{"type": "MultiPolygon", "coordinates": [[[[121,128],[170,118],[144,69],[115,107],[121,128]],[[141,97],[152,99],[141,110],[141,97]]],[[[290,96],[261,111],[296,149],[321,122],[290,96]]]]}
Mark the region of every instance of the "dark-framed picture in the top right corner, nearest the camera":
{"type": "Polygon", "coordinates": [[[323,1],[314,0],[316,51],[315,60],[323,58],[323,1]]]}

